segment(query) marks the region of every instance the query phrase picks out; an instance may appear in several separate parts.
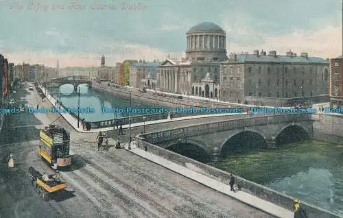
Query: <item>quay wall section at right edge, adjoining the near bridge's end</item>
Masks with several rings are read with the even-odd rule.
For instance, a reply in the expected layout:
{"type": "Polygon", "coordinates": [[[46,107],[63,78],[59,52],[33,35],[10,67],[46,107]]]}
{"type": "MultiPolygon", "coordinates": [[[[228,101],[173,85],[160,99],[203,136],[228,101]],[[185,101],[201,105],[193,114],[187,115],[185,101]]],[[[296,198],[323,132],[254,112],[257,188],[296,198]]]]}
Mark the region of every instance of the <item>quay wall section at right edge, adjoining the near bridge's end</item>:
{"type": "Polygon", "coordinates": [[[314,139],[343,145],[343,114],[313,114],[314,139]]]}

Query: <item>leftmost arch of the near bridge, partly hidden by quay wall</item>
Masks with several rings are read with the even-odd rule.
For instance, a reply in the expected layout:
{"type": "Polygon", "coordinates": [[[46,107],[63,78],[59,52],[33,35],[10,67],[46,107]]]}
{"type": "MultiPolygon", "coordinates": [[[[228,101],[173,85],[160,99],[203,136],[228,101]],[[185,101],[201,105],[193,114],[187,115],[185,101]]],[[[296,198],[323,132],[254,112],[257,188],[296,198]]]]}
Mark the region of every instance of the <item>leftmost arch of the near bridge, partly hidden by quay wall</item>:
{"type": "Polygon", "coordinates": [[[200,162],[210,160],[213,153],[204,143],[191,138],[179,138],[178,140],[169,141],[163,145],[163,148],[200,162]]]}

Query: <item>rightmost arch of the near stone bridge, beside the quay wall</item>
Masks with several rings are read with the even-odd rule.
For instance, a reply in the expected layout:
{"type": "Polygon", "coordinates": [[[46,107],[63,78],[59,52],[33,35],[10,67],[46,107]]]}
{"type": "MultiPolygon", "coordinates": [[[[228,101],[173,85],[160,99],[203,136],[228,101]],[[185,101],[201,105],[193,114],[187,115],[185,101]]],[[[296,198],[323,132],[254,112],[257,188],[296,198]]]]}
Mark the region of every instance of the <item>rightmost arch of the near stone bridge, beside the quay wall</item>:
{"type": "Polygon", "coordinates": [[[309,140],[308,128],[300,123],[289,123],[275,134],[277,145],[296,143],[298,141],[309,140]]]}

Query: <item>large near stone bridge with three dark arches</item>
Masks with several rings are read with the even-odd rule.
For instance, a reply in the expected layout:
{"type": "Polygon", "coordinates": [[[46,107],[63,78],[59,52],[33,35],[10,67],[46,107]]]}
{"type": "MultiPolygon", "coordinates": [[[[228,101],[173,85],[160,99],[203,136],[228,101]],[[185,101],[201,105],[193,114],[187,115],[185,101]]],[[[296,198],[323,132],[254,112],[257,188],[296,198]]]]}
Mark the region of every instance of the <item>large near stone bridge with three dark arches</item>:
{"type": "Polygon", "coordinates": [[[313,123],[311,114],[275,114],[192,125],[140,136],[148,143],[173,151],[178,146],[193,146],[215,160],[217,156],[242,149],[247,144],[250,148],[272,148],[282,143],[311,139],[313,123]]]}

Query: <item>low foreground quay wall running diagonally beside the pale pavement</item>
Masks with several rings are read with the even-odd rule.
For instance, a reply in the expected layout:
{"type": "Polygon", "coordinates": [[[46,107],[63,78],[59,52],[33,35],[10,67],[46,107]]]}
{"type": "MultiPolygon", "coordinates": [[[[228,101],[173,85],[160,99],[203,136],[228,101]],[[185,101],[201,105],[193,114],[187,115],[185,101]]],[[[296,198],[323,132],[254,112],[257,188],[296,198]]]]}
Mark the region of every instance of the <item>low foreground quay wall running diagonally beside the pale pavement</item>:
{"type": "MultiPolygon", "coordinates": [[[[201,126],[204,126],[204,125],[201,125],[201,126]]],[[[183,128],[180,128],[179,131],[184,131],[184,130],[183,128]]],[[[154,136],[162,136],[162,134],[159,134],[158,132],[155,132],[154,134],[155,134],[154,136]]],[[[215,180],[228,184],[228,181],[230,180],[230,173],[226,171],[222,171],[220,169],[216,169],[215,167],[211,167],[209,165],[206,165],[202,162],[198,162],[191,158],[187,158],[180,154],[176,154],[174,152],[168,151],[167,149],[163,149],[161,147],[158,147],[157,145],[153,145],[152,143],[149,143],[145,140],[145,136],[147,135],[151,135],[151,134],[141,134],[139,136],[136,136],[136,145],[138,145],[139,149],[144,149],[147,152],[161,156],[167,160],[175,162],[178,165],[182,165],[183,167],[187,167],[189,166],[189,163],[191,163],[191,165],[196,166],[196,168],[198,169],[196,171],[198,171],[198,173],[202,173],[203,175],[209,176],[210,178],[213,178],[215,180]]],[[[265,199],[266,201],[272,202],[283,208],[287,208],[288,210],[291,210],[291,211],[293,210],[292,208],[293,198],[291,196],[284,195],[283,193],[279,193],[272,189],[268,189],[265,186],[262,186],[255,182],[251,182],[237,175],[234,175],[234,176],[236,178],[237,184],[241,186],[242,191],[255,195],[261,199],[265,199]]],[[[320,218],[339,218],[340,217],[337,214],[331,213],[327,210],[318,208],[314,205],[307,204],[305,202],[302,202],[302,206],[307,211],[307,215],[309,215],[309,217],[320,217],[320,218]]]]}

